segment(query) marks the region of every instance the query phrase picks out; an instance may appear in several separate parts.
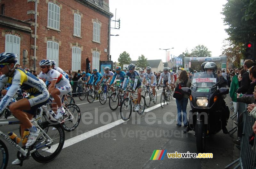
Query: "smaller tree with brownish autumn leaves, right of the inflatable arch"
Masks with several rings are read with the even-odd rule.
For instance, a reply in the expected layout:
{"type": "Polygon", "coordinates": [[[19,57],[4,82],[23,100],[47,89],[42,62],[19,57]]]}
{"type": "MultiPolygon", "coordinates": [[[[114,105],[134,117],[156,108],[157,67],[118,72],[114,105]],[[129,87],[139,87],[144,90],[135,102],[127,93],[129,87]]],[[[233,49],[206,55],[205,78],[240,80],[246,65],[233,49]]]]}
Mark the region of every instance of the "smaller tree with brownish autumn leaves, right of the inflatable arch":
{"type": "Polygon", "coordinates": [[[223,45],[222,55],[227,56],[227,61],[232,62],[235,67],[240,67],[240,60],[244,57],[243,55],[244,45],[236,45],[231,41],[226,40],[223,45]]]}

